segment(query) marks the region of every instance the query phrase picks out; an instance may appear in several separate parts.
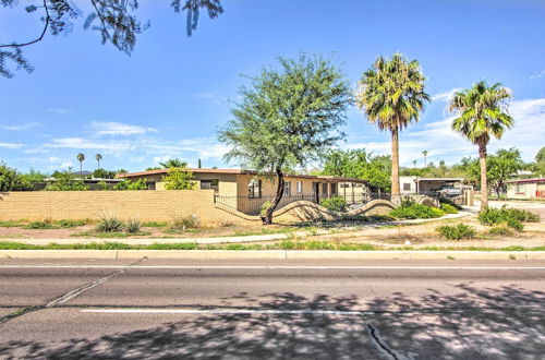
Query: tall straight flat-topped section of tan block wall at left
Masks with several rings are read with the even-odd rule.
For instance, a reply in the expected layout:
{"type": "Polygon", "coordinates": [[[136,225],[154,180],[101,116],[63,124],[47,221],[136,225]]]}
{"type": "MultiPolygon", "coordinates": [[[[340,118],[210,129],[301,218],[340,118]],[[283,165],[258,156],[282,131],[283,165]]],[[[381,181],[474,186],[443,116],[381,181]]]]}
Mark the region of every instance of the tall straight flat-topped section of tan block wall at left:
{"type": "Polygon", "coordinates": [[[33,191],[0,194],[0,220],[98,219],[117,216],[170,221],[196,214],[203,224],[221,223],[214,190],[33,191]]]}

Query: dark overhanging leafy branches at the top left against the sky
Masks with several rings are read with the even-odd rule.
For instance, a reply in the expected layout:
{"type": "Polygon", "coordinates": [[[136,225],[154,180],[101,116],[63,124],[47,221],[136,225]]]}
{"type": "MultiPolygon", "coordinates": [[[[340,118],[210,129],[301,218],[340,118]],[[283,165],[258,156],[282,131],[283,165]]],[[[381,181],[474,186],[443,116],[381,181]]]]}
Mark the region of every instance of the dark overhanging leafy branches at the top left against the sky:
{"type": "MultiPolygon", "coordinates": [[[[100,33],[102,44],[111,44],[118,50],[130,55],[138,34],[149,27],[149,22],[144,23],[136,16],[138,0],[86,0],[92,11],[84,13],[71,0],[34,0],[25,2],[28,13],[41,12],[41,29],[36,36],[27,40],[12,40],[5,43],[0,39],[0,75],[12,77],[8,62],[13,62],[17,69],[32,72],[34,68],[23,57],[22,49],[41,41],[48,34],[52,36],[70,33],[75,20],[84,16],[85,29],[100,33]]],[[[221,0],[171,0],[170,5],[174,12],[186,12],[186,33],[191,36],[196,29],[201,10],[206,10],[210,19],[223,12],[221,0]]],[[[0,0],[4,9],[20,5],[17,0],[0,0]]]]}

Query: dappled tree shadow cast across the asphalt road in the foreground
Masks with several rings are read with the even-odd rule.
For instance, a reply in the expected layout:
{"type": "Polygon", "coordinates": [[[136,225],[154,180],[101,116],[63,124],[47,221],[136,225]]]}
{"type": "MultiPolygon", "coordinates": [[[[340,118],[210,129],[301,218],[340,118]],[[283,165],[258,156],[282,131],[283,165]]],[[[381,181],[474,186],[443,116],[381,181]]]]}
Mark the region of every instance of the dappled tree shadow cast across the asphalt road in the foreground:
{"type": "MultiPolygon", "coordinates": [[[[462,295],[429,290],[422,298],[397,293],[371,300],[364,308],[374,315],[173,315],[183,320],[95,339],[5,343],[0,358],[543,359],[545,292],[458,287],[462,295]],[[380,344],[371,338],[370,328],[380,344]]],[[[356,298],[295,293],[241,293],[225,299],[223,305],[230,301],[246,303],[244,309],[362,309],[356,298]]]]}

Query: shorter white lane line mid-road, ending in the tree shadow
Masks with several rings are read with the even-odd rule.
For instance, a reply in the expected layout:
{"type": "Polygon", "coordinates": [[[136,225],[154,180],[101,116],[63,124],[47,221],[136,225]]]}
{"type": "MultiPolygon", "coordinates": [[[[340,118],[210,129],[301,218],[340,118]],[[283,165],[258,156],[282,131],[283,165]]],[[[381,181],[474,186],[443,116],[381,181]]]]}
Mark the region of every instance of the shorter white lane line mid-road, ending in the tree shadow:
{"type": "Polygon", "coordinates": [[[80,312],[88,313],[113,313],[113,314],[314,314],[314,315],[373,315],[370,311],[349,311],[349,310],[245,310],[245,309],[83,309],[80,312]]]}

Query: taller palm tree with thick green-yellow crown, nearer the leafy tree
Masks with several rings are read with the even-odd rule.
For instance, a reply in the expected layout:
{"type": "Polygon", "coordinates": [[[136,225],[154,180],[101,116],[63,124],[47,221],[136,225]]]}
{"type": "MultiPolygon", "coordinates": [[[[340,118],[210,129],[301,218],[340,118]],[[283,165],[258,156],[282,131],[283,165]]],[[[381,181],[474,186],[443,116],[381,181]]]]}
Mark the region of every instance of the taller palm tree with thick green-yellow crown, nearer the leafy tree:
{"type": "Polygon", "coordinates": [[[424,93],[424,74],[416,60],[401,53],[391,60],[378,57],[360,80],[356,104],[371,123],[391,132],[391,195],[399,201],[399,131],[417,121],[429,95],[424,93]]]}

